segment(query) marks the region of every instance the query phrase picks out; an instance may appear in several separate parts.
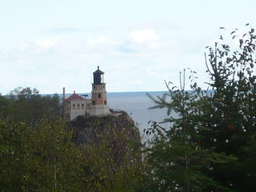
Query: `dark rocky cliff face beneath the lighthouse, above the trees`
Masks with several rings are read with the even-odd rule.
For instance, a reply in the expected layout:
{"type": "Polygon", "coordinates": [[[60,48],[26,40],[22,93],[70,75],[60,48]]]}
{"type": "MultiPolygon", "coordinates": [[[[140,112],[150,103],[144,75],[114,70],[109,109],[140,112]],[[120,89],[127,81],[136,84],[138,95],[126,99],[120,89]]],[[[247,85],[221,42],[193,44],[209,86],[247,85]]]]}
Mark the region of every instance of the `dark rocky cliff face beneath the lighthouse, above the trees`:
{"type": "Polygon", "coordinates": [[[134,121],[127,113],[113,116],[78,116],[76,120],[70,122],[75,131],[74,142],[77,145],[82,143],[95,143],[99,140],[101,134],[113,134],[122,132],[127,138],[134,141],[140,141],[140,131],[135,126],[134,121]]]}

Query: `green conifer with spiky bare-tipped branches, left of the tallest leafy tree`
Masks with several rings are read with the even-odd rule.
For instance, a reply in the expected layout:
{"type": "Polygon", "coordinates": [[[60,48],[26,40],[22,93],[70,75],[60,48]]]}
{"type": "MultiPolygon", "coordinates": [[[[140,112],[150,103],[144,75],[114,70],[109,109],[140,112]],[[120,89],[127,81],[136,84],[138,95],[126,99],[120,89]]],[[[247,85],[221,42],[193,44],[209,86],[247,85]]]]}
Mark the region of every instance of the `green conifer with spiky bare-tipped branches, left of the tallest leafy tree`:
{"type": "Polygon", "coordinates": [[[148,134],[157,133],[147,148],[147,163],[154,170],[151,188],[154,191],[210,191],[217,188],[225,191],[226,188],[204,173],[211,172],[212,163],[221,158],[198,143],[200,127],[195,116],[198,114],[195,105],[198,95],[186,92],[184,81],[185,70],[183,81],[180,74],[180,89],[170,88],[170,83],[166,83],[169,92],[163,97],[154,99],[148,95],[157,104],[153,108],[164,107],[168,108],[168,115],[172,111],[179,114],[177,118],[164,119],[163,122],[172,124],[171,129],[164,130],[154,123],[147,131],[148,134]]]}

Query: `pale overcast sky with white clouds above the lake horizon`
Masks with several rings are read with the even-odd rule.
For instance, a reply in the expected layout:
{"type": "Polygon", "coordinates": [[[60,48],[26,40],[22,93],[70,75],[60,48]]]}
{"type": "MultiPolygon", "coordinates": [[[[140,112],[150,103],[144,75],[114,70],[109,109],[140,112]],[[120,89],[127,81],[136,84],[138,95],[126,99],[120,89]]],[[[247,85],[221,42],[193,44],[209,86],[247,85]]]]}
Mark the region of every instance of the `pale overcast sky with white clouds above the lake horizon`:
{"type": "MultiPolygon", "coordinates": [[[[190,67],[204,88],[204,52],[220,27],[255,27],[256,1],[0,1],[0,92],[90,92],[105,72],[108,92],[166,90],[190,67]]],[[[222,32],[221,32],[222,33],[222,32]]],[[[189,87],[189,86],[188,86],[189,87]]]]}

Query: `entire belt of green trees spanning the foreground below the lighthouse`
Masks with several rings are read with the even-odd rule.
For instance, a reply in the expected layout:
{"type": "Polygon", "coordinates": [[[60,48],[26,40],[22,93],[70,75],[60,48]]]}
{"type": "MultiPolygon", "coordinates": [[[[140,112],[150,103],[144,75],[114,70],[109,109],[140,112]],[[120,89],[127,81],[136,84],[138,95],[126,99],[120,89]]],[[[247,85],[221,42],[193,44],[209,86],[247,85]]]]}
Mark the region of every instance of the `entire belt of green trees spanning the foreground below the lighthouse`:
{"type": "Polygon", "coordinates": [[[237,49],[220,36],[205,54],[211,92],[193,71],[186,92],[184,70],[179,88],[166,82],[168,93],[148,95],[172,124],[149,124],[143,145],[108,122],[95,142],[75,144],[58,95],[20,88],[0,96],[0,190],[256,191],[256,36],[237,33],[237,49]]]}

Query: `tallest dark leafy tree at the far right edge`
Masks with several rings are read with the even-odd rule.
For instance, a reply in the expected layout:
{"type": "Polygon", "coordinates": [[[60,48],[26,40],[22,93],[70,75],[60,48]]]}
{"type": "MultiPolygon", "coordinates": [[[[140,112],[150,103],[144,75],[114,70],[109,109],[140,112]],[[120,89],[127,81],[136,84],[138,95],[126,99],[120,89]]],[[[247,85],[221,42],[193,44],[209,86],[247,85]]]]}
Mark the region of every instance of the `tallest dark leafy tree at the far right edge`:
{"type": "MultiPolygon", "coordinates": [[[[253,33],[254,29],[250,29],[243,38],[238,38],[239,48],[236,50],[220,43],[216,43],[214,49],[209,48],[209,60],[205,61],[214,94],[212,97],[205,96],[207,108],[200,106],[200,124],[210,130],[201,133],[204,147],[214,146],[215,152],[237,158],[233,163],[216,166],[213,176],[224,186],[238,191],[256,189],[253,182],[249,182],[255,179],[256,172],[241,169],[241,166],[253,167],[250,161],[244,161],[252,151],[244,149],[253,149],[256,134],[256,76],[253,69],[256,36],[253,33]],[[240,179],[242,177],[247,182],[240,179]]],[[[231,35],[237,38],[237,30],[232,31],[231,35]]]]}

